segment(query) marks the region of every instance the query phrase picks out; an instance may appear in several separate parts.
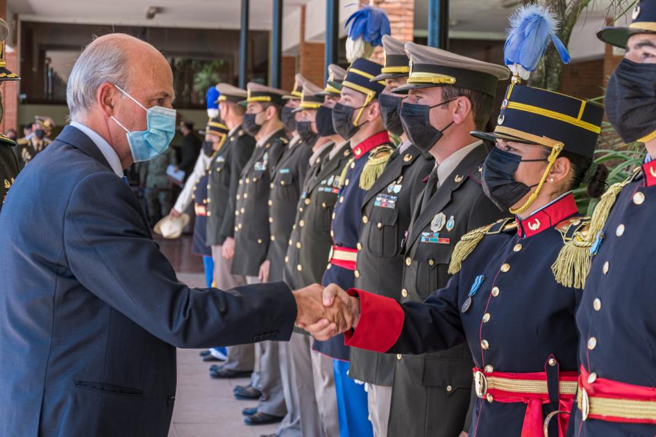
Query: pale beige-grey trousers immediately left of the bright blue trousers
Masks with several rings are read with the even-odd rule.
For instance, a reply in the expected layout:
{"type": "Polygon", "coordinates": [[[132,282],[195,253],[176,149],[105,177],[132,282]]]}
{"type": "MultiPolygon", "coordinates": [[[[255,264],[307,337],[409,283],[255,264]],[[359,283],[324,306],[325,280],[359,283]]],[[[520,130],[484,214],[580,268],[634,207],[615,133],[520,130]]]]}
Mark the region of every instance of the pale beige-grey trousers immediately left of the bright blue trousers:
{"type": "MultiPolygon", "coordinates": [[[[311,343],[310,343],[311,344],[311,343]]],[[[310,350],[312,346],[310,345],[310,350]]],[[[335,391],[335,374],[333,359],[311,350],[312,377],[314,379],[314,396],[321,420],[321,436],[339,436],[337,421],[337,392],[335,391]]]]}

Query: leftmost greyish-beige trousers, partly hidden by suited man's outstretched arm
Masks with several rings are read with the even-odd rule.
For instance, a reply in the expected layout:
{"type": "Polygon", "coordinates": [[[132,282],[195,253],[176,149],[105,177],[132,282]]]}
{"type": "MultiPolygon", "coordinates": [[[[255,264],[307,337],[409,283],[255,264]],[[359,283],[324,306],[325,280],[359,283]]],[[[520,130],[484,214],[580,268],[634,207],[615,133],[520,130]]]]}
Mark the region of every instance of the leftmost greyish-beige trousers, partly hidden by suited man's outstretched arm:
{"type": "MultiPolygon", "coordinates": [[[[230,269],[233,262],[221,256],[222,246],[212,246],[212,259],[214,260],[214,281],[221,290],[232,289],[235,286],[246,284],[246,277],[233,275],[230,269]]],[[[226,370],[253,370],[255,366],[255,346],[252,344],[228,346],[228,359],[223,364],[226,370]]]]}

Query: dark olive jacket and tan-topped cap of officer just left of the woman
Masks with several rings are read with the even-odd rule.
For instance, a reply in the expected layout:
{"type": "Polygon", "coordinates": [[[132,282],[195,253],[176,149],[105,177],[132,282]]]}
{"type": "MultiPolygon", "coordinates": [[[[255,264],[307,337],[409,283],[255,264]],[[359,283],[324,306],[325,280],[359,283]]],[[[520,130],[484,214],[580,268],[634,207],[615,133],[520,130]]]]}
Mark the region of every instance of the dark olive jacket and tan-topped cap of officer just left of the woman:
{"type": "MultiPolygon", "coordinates": [[[[494,96],[505,67],[408,42],[408,89],[456,85],[494,96]]],[[[455,243],[470,230],[507,216],[485,196],[482,163],[489,144],[473,142],[434,169],[417,199],[404,241],[401,302],[421,302],[446,286],[455,243]]],[[[423,355],[396,356],[388,434],[456,436],[469,427],[471,352],[464,344],[423,355]],[[451,387],[451,390],[447,390],[451,387]]]]}

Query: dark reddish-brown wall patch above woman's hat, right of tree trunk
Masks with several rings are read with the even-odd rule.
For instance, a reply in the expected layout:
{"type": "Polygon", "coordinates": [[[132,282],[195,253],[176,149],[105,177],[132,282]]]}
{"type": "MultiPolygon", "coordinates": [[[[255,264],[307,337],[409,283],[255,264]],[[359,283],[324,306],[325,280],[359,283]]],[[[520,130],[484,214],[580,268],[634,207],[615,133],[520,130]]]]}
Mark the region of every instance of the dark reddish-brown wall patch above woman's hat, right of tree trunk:
{"type": "Polygon", "coordinates": [[[559,91],[577,98],[598,97],[603,94],[604,69],[603,58],[565,65],[559,91]]]}

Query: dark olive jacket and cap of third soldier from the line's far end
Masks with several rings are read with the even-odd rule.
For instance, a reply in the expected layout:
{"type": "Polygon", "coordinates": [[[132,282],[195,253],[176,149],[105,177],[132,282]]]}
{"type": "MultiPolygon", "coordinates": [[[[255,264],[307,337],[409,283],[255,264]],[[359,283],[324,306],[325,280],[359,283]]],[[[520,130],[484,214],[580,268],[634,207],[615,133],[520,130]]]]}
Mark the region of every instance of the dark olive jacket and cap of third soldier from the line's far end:
{"type": "MultiPolygon", "coordinates": [[[[261,85],[249,83],[246,103],[264,102],[283,105],[283,95],[261,90],[261,85]],[[252,89],[260,89],[252,91],[252,89]]],[[[269,196],[274,166],[289,144],[284,129],[273,132],[255,145],[251,159],[239,178],[235,203],[235,257],[233,273],[255,276],[267,259],[271,232],[269,228],[269,196]]]]}

